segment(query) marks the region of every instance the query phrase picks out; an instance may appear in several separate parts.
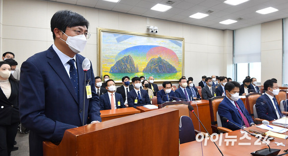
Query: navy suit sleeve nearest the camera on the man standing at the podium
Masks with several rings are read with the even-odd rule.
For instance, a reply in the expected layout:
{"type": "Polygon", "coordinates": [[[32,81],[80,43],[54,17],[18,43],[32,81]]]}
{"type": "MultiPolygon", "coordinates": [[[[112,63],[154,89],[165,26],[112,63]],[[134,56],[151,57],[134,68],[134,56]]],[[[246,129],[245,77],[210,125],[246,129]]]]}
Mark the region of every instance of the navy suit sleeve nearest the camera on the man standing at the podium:
{"type": "Polygon", "coordinates": [[[21,123],[36,131],[44,139],[61,141],[65,130],[76,126],[54,121],[45,115],[45,83],[38,67],[31,61],[25,61],[21,65],[19,85],[21,123]]]}

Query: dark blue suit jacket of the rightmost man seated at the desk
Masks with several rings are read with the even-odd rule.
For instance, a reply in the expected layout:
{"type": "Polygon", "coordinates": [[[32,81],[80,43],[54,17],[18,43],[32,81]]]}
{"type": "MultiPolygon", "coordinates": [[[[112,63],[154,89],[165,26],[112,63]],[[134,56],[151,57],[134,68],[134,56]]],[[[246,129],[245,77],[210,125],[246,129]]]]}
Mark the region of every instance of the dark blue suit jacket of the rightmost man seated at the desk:
{"type": "MultiPolygon", "coordinates": [[[[276,100],[276,103],[277,103],[277,100],[276,100]]],[[[278,106],[279,110],[281,111],[278,103],[276,105],[278,106]]],[[[273,106],[273,103],[266,94],[263,94],[262,96],[260,96],[256,100],[255,106],[256,106],[257,115],[259,118],[265,119],[268,121],[278,119],[276,111],[275,111],[274,106],[273,106]]],[[[280,114],[280,117],[282,117],[281,114],[280,114]]]]}

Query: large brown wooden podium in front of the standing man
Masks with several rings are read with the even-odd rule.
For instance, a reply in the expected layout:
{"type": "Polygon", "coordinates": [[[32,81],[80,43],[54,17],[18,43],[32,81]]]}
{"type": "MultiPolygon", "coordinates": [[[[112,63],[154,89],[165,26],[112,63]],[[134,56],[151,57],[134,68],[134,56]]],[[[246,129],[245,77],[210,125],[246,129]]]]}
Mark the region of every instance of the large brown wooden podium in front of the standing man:
{"type": "Polygon", "coordinates": [[[162,108],[65,131],[44,156],[178,156],[178,110],[162,108]]]}

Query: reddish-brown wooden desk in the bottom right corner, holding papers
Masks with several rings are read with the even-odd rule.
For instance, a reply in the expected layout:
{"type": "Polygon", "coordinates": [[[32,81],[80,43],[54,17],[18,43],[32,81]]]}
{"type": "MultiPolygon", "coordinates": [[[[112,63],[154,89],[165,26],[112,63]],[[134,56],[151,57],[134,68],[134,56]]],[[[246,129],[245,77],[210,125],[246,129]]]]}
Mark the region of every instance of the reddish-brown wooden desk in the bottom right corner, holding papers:
{"type": "MultiPolygon", "coordinates": [[[[247,128],[247,130],[249,128],[247,128]]],[[[267,131],[267,130],[257,128],[255,126],[253,126],[252,128],[259,129],[263,132],[267,131]]],[[[225,134],[222,135],[221,146],[218,146],[219,140],[216,141],[216,145],[222,151],[224,156],[252,156],[250,153],[268,148],[266,144],[254,145],[254,142],[257,140],[257,138],[251,136],[250,134],[248,134],[247,136],[249,136],[251,140],[248,140],[246,138],[244,138],[243,140],[240,140],[240,137],[244,136],[244,134],[240,133],[240,130],[227,133],[228,136],[237,136],[237,141],[234,142],[234,146],[231,146],[231,142],[229,142],[229,146],[226,146],[227,141],[225,142],[224,140],[228,138],[225,138],[225,134]],[[251,143],[251,145],[238,145],[238,143],[251,143]]],[[[213,138],[215,139],[216,136],[214,136],[213,138]]],[[[282,142],[283,144],[285,144],[285,140],[280,139],[280,138],[275,138],[272,142],[282,142]]],[[[201,142],[197,142],[197,141],[181,144],[180,156],[202,156],[202,150],[201,150],[202,148],[203,148],[203,156],[221,156],[221,154],[219,153],[216,146],[211,140],[207,141],[207,146],[204,146],[204,143],[205,143],[205,140],[202,141],[202,145],[203,145],[202,147],[201,147],[201,142]]],[[[270,143],[269,146],[271,147],[271,149],[281,149],[279,154],[283,154],[284,153],[283,150],[287,149],[287,147],[277,146],[275,143],[270,143]]]]}

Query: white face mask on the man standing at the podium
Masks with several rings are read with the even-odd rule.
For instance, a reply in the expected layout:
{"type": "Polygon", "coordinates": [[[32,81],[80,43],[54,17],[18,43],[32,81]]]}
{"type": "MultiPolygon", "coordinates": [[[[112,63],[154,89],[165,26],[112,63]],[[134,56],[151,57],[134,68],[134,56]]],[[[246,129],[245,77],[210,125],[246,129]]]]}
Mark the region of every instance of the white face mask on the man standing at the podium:
{"type": "MultiPolygon", "coordinates": [[[[63,31],[61,31],[63,34],[65,34],[63,31]]],[[[65,34],[66,35],[66,34],[65,34]]],[[[61,39],[62,41],[66,42],[66,44],[69,46],[69,48],[75,52],[75,53],[79,53],[79,52],[83,52],[86,43],[87,43],[87,39],[85,37],[85,35],[77,35],[77,36],[68,36],[66,35],[68,38],[66,41],[64,41],[63,39],[61,39]]]]}

